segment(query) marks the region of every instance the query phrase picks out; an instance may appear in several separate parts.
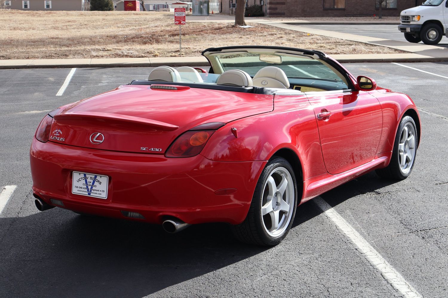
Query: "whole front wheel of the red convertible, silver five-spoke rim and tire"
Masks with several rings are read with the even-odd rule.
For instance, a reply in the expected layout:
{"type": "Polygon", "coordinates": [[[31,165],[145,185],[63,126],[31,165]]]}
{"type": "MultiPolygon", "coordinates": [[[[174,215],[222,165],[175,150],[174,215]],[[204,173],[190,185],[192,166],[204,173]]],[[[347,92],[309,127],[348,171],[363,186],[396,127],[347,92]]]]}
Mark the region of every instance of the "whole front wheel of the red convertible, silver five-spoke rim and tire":
{"type": "Polygon", "coordinates": [[[401,119],[395,136],[390,164],[376,173],[388,179],[402,180],[412,172],[417,153],[417,128],[414,119],[405,116],[401,119]]]}

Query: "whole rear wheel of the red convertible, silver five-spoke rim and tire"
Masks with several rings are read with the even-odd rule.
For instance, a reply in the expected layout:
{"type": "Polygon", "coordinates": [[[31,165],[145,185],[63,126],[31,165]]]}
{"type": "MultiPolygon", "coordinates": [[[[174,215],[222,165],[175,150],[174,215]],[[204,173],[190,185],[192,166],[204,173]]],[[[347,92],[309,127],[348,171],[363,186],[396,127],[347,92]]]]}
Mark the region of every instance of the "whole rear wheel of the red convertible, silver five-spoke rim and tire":
{"type": "Polygon", "coordinates": [[[280,243],[293,225],[297,207],[297,184],[289,162],[271,159],[258,179],[244,222],[233,226],[237,239],[249,244],[280,243]]]}

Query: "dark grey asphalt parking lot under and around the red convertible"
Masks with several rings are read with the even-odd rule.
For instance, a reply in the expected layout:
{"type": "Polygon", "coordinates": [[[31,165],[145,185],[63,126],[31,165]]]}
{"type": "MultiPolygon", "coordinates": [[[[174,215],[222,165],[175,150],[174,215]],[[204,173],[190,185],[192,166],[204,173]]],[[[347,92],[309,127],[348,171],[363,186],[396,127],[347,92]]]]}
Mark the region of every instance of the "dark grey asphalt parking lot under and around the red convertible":
{"type": "MultiPolygon", "coordinates": [[[[422,142],[408,179],[372,172],[321,196],[424,298],[448,296],[447,65],[345,64],[414,99],[422,142]]],[[[17,185],[0,213],[0,297],[420,297],[398,292],[314,201],[297,208],[274,248],[241,244],[225,224],[169,235],[60,208],[39,212],[28,155],[45,113],[151,69],[76,69],[56,96],[70,71],[0,70],[0,190],[17,185]]]]}

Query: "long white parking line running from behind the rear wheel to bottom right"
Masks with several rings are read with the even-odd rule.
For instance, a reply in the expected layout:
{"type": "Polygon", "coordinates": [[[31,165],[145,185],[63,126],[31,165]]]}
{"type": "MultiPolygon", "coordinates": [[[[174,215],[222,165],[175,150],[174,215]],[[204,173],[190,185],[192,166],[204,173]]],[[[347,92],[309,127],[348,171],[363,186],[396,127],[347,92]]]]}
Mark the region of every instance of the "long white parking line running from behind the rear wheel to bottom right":
{"type": "Polygon", "coordinates": [[[366,258],[369,263],[374,266],[383,278],[390,284],[394,289],[399,291],[405,298],[422,298],[417,290],[410,285],[401,274],[396,271],[388,261],[373,248],[348,222],[345,221],[339,213],[328,205],[320,197],[316,197],[314,202],[323,211],[323,214],[327,218],[331,219],[339,230],[353,243],[362,255],[366,258]]]}

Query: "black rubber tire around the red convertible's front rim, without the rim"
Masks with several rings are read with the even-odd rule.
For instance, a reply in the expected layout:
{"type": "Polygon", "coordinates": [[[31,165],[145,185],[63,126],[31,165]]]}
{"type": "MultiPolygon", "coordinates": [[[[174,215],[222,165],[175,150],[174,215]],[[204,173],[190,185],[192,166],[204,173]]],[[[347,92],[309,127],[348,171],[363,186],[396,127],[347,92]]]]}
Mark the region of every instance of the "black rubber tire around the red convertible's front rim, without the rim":
{"type": "Polygon", "coordinates": [[[417,126],[415,125],[414,119],[410,116],[405,116],[401,119],[400,125],[398,126],[398,130],[396,132],[396,136],[395,136],[395,142],[394,142],[394,146],[393,146],[393,151],[392,151],[392,158],[391,161],[389,163],[389,165],[386,168],[382,168],[382,169],[377,169],[376,173],[378,174],[378,176],[382,177],[382,178],[386,178],[386,179],[393,179],[393,180],[403,180],[406,179],[412,172],[412,169],[414,168],[414,164],[415,164],[415,157],[417,155],[417,145],[418,144],[418,131],[417,131],[417,126]],[[414,141],[414,146],[415,146],[415,153],[414,153],[414,159],[412,161],[412,164],[410,165],[410,168],[406,171],[403,172],[403,170],[401,169],[400,166],[400,153],[399,153],[399,142],[400,142],[400,138],[401,138],[401,134],[403,132],[403,129],[405,128],[405,126],[410,123],[412,126],[414,126],[414,131],[415,131],[415,141],[414,141]]]}

